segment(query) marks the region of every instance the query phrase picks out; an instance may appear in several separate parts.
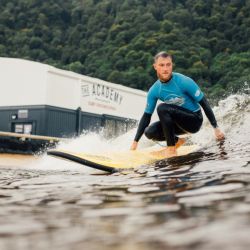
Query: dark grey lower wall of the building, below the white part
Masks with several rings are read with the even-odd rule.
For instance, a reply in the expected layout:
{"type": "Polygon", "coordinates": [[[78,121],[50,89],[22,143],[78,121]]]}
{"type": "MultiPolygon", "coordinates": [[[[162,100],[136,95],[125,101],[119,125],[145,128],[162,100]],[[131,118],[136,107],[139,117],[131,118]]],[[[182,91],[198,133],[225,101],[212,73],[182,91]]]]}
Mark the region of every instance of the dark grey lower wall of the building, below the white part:
{"type": "Polygon", "coordinates": [[[46,105],[2,107],[0,117],[0,131],[53,137],[74,137],[83,131],[98,132],[104,129],[105,135],[110,138],[126,132],[136,122],[46,105]]]}

